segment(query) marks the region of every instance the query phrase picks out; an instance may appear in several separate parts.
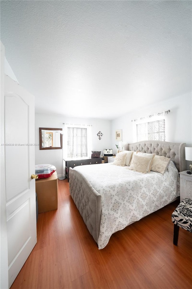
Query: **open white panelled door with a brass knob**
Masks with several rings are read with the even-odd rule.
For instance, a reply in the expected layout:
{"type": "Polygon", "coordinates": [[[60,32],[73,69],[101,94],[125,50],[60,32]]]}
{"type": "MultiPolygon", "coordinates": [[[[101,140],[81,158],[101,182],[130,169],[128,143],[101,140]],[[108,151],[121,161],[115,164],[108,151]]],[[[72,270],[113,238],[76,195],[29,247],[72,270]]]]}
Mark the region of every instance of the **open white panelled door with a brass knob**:
{"type": "Polygon", "coordinates": [[[5,76],[5,188],[9,287],[37,242],[34,96],[5,76]]]}

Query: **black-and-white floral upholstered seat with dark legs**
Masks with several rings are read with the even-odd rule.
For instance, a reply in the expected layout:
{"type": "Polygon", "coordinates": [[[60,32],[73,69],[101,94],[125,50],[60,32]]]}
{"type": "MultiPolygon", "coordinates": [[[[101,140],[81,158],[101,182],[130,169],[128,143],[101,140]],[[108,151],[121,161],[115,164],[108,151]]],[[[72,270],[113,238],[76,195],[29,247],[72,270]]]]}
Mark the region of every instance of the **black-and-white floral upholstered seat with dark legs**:
{"type": "Polygon", "coordinates": [[[173,244],[177,246],[179,227],[192,233],[192,200],[183,199],[171,217],[174,224],[173,244]]]}

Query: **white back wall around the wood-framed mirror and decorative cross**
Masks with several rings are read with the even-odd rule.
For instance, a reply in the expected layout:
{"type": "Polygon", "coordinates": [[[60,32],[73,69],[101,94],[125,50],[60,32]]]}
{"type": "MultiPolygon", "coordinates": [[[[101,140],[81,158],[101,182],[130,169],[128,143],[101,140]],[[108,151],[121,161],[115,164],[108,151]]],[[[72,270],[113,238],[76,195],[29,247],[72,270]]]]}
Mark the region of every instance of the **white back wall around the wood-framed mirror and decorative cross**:
{"type": "MultiPolygon", "coordinates": [[[[111,148],[111,121],[101,119],[82,119],[67,117],[64,115],[35,114],[35,143],[39,144],[39,128],[64,128],[63,123],[92,125],[92,150],[101,151],[111,148]],[[99,140],[97,133],[101,131],[103,136],[99,140]]],[[[58,177],[61,176],[62,150],[35,150],[35,164],[52,164],[56,167],[58,177]]]]}

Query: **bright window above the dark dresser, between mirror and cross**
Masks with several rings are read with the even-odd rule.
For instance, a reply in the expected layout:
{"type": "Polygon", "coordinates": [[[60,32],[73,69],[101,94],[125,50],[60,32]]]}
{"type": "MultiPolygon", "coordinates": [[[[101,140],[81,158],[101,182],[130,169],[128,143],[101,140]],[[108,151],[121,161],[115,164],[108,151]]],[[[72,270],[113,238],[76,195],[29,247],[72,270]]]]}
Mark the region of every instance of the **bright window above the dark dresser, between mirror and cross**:
{"type": "Polygon", "coordinates": [[[91,126],[65,126],[64,155],[68,158],[91,156],[91,126]]]}

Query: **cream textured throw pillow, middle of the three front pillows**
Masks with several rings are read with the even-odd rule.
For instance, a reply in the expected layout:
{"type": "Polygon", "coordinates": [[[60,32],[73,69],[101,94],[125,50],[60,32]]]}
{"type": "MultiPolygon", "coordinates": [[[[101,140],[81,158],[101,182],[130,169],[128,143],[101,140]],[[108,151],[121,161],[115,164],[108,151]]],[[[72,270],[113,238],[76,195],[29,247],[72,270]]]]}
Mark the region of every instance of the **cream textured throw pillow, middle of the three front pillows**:
{"type": "Polygon", "coordinates": [[[149,157],[141,157],[135,154],[133,155],[132,163],[129,169],[136,172],[146,173],[150,162],[151,159],[149,159],[149,157]]]}

